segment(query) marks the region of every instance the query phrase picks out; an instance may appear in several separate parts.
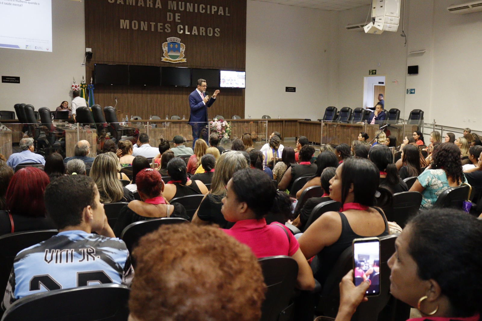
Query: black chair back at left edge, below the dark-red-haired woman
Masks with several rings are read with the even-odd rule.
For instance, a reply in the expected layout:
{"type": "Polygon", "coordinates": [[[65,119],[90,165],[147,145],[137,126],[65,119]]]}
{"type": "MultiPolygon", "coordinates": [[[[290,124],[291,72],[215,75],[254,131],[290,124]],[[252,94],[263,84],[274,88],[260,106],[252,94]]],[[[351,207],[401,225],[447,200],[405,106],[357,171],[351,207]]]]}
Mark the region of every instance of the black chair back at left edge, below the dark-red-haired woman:
{"type": "MultiPolygon", "coordinates": [[[[56,229],[40,231],[15,232],[0,236],[0,293],[5,293],[10,272],[12,272],[13,259],[18,252],[46,241],[57,235],[56,229]]],[[[19,319],[22,320],[22,319],[19,319]]],[[[23,319],[27,320],[27,319],[23,319]]]]}

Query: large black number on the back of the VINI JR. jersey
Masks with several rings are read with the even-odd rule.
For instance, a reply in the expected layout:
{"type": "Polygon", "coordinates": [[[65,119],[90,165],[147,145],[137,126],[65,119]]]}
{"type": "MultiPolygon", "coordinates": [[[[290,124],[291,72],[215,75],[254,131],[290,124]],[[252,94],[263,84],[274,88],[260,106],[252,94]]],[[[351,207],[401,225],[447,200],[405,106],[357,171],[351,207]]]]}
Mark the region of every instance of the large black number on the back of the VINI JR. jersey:
{"type": "MultiPolygon", "coordinates": [[[[101,284],[112,283],[112,279],[104,271],[90,271],[77,273],[77,286],[90,285],[92,282],[101,284]]],[[[48,291],[60,290],[62,285],[54,280],[50,275],[36,275],[30,280],[29,291],[40,290],[40,284],[48,291]]]]}

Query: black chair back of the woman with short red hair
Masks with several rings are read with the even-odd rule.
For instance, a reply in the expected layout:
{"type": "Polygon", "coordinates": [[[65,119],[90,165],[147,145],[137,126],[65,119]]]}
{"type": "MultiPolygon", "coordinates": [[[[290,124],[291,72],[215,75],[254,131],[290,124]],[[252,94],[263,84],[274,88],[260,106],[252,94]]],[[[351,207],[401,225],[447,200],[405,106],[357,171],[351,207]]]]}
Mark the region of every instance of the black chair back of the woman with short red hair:
{"type": "Polygon", "coordinates": [[[179,223],[188,223],[184,218],[180,217],[162,217],[162,218],[153,218],[146,221],[139,221],[129,224],[124,228],[122,234],[120,235],[120,239],[125,242],[129,253],[132,253],[132,250],[137,245],[137,241],[147,233],[153,232],[158,229],[161,225],[166,224],[179,224],[179,223]]]}

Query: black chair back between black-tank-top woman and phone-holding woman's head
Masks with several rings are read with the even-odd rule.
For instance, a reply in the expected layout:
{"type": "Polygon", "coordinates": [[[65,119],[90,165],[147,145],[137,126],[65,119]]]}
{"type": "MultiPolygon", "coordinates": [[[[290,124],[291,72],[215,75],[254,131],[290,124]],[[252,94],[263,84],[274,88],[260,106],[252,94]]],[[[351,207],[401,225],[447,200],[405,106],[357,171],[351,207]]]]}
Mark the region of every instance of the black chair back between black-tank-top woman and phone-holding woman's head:
{"type": "Polygon", "coordinates": [[[400,192],[393,194],[392,206],[385,211],[389,222],[396,222],[404,228],[408,219],[420,210],[422,194],[419,192],[400,192]]]}

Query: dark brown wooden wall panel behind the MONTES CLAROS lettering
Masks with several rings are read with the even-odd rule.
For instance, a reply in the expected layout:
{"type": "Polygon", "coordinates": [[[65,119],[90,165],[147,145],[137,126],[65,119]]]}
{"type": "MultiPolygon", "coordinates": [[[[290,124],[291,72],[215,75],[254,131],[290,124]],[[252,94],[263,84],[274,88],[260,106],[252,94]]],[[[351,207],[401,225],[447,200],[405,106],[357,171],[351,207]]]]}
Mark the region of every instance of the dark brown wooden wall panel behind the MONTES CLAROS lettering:
{"type": "MultiPolygon", "coordinates": [[[[153,0],[152,8],[147,7],[149,0],[85,0],[85,46],[92,48],[93,58],[86,63],[87,83],[93,75],[95,63],[149,65],[164,67],[216,68],[244,71],[246,63],[246,1],[200,0],[168,1],[153,0]],[[176,10],[169,9],[176,3],[176,10]],[[129,3],[135,3],[131,5],[129,3]],[[142,3],[144,6],[140,6],[142,3]],[[160,3],[162,8],[156,8],[160,3]],[[187,4],[192,3],[193,10],[187,12],[187,4]],[[184,11],[179,5],[184,4],[184,11]],[[200,13],[200,6],[223,7],[223,15],[200,13]],[[226,10],[228,8],[228,11],[226,10]],[[167,21],[168,13],[179,14],[180,22],[167,21]],[[229,15],[227,15],[227,13],[229,15]],[[129,20],[129,29],[120,28],[120,19],[129,20]],[[133,21],[138,29],[134,30],[133,21]],[[147,22],[147,30],[141,30],[141,22],[147,22]],[[151,31],[151,22],[155,22],[155,31],[151,31]],[[158,32],[158,23],[163,24],[163,31],[158,32]],[[170,25],[167,32],[166,24],[170,25]],[[184,26],[183,33],[177,32],[177,26],[184,26]],[[200,27],[219,29],[219,36],[201,36],[186,34],[192,28],[200,27]],[[162,43],[168,37],[180,38],[186,45],[185,63],[162,62],[162,43]]],[[[217,10],[216,12],[219,12],[217,10]]],[[[213,31],[215,32],[215,31],[213,31]]],[[[208,86],[210,84],[208,83],[208,86]]],[[[212,94],[216,88],[208,88],[212,94]]],[[[95,103],[101,106],[114,106],[117,96],[119,113],[142,116],[183,114],[189,117],[187,97],[194,88],[159,87],[159,86],[106,86],[95,85],[95,103]]],[[[234,114],[244,116],[244,90],[222,89],[218,101],[208,109],[208,116],[221,114],[231,117],[234,114]]]]}

